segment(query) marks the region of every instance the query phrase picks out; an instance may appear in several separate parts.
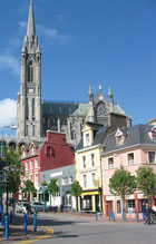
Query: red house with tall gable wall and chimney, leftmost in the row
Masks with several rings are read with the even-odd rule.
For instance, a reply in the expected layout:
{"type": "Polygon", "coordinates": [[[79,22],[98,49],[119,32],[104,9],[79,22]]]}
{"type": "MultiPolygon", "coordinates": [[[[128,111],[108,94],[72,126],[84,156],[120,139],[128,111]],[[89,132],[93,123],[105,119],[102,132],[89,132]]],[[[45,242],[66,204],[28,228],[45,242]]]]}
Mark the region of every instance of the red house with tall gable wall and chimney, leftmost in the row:
{"type": "Polygon", "coordinates": [[[25,168],[21,187],[25,188],[25,182],[29,179],[38,193],[42,180],[41,172],[72,165],[75,156],[66,143],[65,134],[47,130],[46,141],[32,141],[22,147],[21,164],[25,168]]]}

